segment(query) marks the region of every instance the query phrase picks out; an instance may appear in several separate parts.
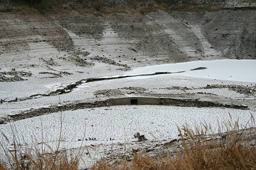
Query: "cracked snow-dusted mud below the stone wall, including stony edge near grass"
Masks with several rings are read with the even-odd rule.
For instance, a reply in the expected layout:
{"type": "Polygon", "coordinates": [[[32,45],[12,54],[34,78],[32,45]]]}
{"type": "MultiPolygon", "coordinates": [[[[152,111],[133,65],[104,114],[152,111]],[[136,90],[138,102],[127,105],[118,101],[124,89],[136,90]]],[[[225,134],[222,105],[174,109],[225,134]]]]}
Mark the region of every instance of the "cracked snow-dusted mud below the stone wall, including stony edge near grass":
{"type": "MultiPolygon", "coordinates": [[[[248,110],[159,105],[111,106],[64,111],[60,147],[77,153],[80,146],[85,146],[86,149],[80,154],[86,163],[81,163],[80,166],[90,167],[92,163],[101,157],[108,157],[112,152],[117,155],[128,153],[132,148],[152,148],[153,145],[178,138],[177,126],[182,128],[187,124],[193,129],[196,125],[201,127],[200,122],[207,122],[214,132],[218,132],[218,123],[230,120],[229,114],[232,121],[239,118],[239,123],[243,125],[251,117],[248,110]],[[136,132],[144,134],[149,141],[136,142],[137,139],[133,137],[136,132]]],[[[60,113],[0,125],[0,131],[10,142],[7,143],[3,137],[0,141],[10,148],[13,147],[11,126],[21,143],[29,145],[33,139],[40,143],[39,145],[46,143],[56,149],[60,137],[60,113]]]]}

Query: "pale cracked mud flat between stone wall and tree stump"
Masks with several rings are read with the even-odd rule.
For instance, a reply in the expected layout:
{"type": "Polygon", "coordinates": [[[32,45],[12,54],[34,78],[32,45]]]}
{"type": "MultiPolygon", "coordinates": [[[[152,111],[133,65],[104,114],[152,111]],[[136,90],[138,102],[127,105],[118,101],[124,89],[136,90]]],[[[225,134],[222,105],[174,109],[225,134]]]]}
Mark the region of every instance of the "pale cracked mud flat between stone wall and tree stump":
{"type": "MultiPolygon", "coordinates": [[[[109,138],[135,140],[132,139],[135,132],[146,134],[151,140],[154,138],[150,133],[157,139],[175,138],[178,134],[176,125],[181,127],[188,124],[193,127],[205,121],[211,124],[212,130],[217,130],[218,121],[228,120],[229,113],[233,120],[239,117],[241,124],[246,124],[251,116],[248,110],[159,105],[70,110],[62,112],[62,138],[66,142],[76,142],[83,138],[84,130],[85,138],[96,138],[96,143],[107,141],[109,138]]],[[[45,141],[45,134],[47,141],[56,141],[60,135],[60,113],[19,120],[11,125],[15,125],[19,137],[24,138],[27,143],[31,141],[31,136],[35,136],[38,141],[45,141]]],[[[0,128],[8,138],[12,138],[10,123],[3,124],[0,128]]]]}

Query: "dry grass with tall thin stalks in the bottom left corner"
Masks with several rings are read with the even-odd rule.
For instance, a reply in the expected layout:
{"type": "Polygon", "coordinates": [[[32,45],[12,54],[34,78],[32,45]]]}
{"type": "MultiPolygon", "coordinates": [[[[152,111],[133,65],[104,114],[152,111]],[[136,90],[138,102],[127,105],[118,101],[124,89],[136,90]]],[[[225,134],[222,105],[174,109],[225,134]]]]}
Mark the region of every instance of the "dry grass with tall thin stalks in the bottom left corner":
{"type": "MultiPolygon", "coordinates": [[[[60,111],[60,138],[53,146],[48,145],[46,139],[38,142],[32,137],[31,144],[27,144],[24,138],[19,136],[15,124],[10,123],[12,137],[8,138],[2,132],[0,139],[0,170],[78,170],[80,154],[84,152],[81,149],[83,143],[76,154],[60,148],[62,121],[60,111]],[[56,149],[53,149],[55,147],[56,149]]],[[[41,135],[43,140],[43,130],[41,135]]]]}

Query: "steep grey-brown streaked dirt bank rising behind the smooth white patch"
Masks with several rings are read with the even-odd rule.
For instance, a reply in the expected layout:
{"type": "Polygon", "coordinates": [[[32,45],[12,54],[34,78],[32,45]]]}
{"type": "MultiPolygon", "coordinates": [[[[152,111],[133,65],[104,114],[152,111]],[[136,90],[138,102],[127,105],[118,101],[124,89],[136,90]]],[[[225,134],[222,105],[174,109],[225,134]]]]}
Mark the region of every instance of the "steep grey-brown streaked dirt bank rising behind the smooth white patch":
{"type": "Polygon", "coordinates": [[[158,11],[147,15],[115,13],[101,16],[81,15],[76,11],[46,16],[2,12],[0,54],[26,53],[29,43],[38,42],[52,45],[59,51],[83,47],[92,53],[86,48],[91,41],[93,55],[103,57],[105,54],[104,57],[131,67],[148,65],[150,61],[160,64],[224,58],[255,59],[255,18],[254,10],[158,11]],[[106,39],[104,34],[108,31],[112,31],[109,35],[113,34],[106,39]],[[76,41],[80,39],[80,44],[74,45],[71,34],[76,41]],[[92,43],[94,41],[99,43],[92,43]],[[101,49],[100,43],[109,47],[101,49]],[[111,54],[111,45],[120,53],[113,51],[111,54]]]}

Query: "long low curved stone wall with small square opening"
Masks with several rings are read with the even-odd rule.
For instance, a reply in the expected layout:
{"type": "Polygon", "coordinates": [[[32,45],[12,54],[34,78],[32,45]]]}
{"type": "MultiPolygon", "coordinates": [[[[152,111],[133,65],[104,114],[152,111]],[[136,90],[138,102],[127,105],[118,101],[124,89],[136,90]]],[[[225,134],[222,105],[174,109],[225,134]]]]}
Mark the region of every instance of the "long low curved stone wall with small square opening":
{"type": "Polygon", "coordinates": [[[95,108],[95,107],[106,107],[113,105],[130,105],[131,100],[138,100],[139,105],[172,105],[172,106],[183,106],[183,107],[226,107],[234,109],[249,109],[246,105],[233,105],[233,104],[222,104],[209,101],[201,101],[199,99],[175,99],[175,98],[158,98],[158,97],[122,97],[122,98],[110,98],[102,101],[94,102],[82,102],[82,103],[71,103],[63,105],[52,105],[50,107],[42,107],[38,109],[25,110],[20,113],[8,115],[4,121],[17,121],[26,119],[29,117],[40,116],[53,112],[60,112],[64,110],[76,110],[83,108],[95,108]]]}

